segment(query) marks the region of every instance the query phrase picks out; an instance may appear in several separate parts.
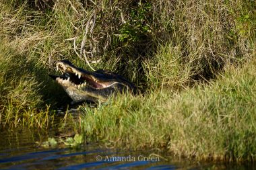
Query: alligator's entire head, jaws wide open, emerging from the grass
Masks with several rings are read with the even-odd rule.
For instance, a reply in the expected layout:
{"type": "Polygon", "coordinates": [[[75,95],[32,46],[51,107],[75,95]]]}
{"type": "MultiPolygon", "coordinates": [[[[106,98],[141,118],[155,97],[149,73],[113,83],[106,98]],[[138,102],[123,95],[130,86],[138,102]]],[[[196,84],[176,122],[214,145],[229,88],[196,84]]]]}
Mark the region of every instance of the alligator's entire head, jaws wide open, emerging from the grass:
{"type": "Polygon", "coordinates": [[[69,60],[61,60],[56,64],[61,76],[50,75],[61,85],[73,103],[81,101],[104,102],[113,93],[131,91],[135,93],[136,87],[121,75],[108,71],[86,71],[75,67],[69,60]]]}

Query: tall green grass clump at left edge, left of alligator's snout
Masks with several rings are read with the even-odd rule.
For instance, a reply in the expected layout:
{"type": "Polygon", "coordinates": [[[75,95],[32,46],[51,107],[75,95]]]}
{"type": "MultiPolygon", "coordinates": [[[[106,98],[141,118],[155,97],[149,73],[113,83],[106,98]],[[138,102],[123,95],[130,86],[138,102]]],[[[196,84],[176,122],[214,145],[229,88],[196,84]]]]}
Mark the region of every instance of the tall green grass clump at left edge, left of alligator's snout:
{"type": "Polygon", "coordinates": [[[34,64],[11,48],[0,45],[1,126],[48,126],[49,108],[42,111],[40,82],[34,77],[34,64]]]}

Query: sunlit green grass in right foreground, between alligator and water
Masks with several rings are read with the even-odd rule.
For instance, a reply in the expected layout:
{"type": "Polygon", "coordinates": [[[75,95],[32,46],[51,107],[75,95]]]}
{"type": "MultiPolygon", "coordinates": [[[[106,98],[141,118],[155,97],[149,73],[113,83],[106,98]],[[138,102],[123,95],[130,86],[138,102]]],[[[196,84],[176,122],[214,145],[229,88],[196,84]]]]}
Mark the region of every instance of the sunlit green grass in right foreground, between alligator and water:
{"type": "Polygon", "coordinates": [[[180,157],[255,160],[255,60],[230,66],[216,81],[117,97],[86,108],[84,132],[110,146],[160,148],[180,157]]]}

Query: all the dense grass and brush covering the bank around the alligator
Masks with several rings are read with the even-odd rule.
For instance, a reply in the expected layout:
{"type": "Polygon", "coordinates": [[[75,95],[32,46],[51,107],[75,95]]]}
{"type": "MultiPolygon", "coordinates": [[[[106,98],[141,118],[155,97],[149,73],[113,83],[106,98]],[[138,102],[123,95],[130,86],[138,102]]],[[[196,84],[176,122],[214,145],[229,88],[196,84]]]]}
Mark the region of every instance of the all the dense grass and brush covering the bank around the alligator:
{"type": "Polygon", "coordinates": [[[84,105],[86,138],[255,160],[255,11],[251,0],[2,0],[1,126],[49,124],[69,99],[47,75],[66,58],[141,90],[84,105]]]}

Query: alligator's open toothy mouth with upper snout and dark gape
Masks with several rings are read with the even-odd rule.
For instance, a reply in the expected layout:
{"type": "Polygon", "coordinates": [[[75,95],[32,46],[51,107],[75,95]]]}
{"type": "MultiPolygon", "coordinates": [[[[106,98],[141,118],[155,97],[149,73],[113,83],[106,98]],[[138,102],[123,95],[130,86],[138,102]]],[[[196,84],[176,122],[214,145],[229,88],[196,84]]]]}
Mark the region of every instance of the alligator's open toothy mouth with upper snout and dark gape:
{"type": "Polygon", "coordinates": [[[100,81],[94,76],[94,73],[85,71],[84,69],[77,68],[71,64],[68,60],[61,60],[56,64],[57,71],[62,73],[61,76],[50,75],[59,84],[63,86],[77,87],[81,89],[89,86],[94,89],[104,89],[110,87],[114,82],[100,81]]]}

